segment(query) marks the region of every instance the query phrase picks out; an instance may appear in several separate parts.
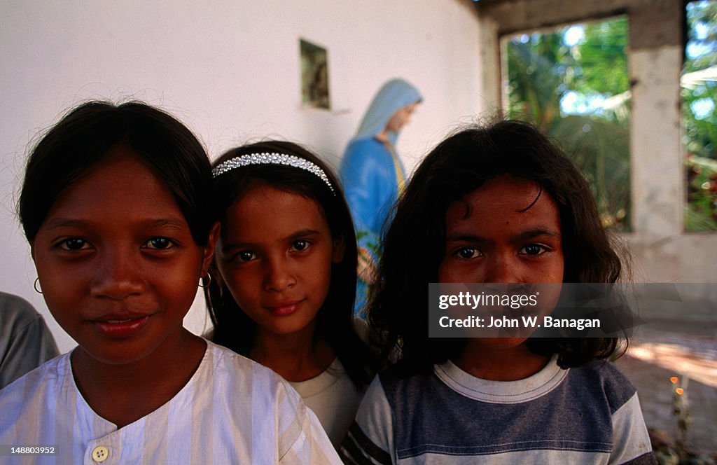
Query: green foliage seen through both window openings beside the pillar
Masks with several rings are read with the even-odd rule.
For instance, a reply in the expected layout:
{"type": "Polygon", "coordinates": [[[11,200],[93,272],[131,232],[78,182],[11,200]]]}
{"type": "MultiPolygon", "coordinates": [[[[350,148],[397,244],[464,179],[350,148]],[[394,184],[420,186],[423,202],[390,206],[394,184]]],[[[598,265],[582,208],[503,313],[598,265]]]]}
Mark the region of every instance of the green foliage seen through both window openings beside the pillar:
{"type": "MultiPolygon", "coordinates": [[[[717,230],[717,1],[686,5],[685,229],[717,230]]],[[[607,227],[630,229],[627,19],[521,34],[505,46],[508,116],[555,136],[591,182],[607,227]]]]}

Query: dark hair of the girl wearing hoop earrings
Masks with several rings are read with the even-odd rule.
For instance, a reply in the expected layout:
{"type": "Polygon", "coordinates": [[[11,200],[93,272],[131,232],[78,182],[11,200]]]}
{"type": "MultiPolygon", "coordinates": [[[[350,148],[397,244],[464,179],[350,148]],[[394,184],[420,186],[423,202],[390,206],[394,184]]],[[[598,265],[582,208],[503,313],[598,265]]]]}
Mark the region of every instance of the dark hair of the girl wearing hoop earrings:
{"type": "Polygon", "coordinates": [[[18,211],[32,243],[67,187],[118,146],[136,153],[172,192],[194,242],[206,245],[214,225],[209,158],[194,134],[146,103],[82,103],[53,126],[29,156],[18,211]]]}

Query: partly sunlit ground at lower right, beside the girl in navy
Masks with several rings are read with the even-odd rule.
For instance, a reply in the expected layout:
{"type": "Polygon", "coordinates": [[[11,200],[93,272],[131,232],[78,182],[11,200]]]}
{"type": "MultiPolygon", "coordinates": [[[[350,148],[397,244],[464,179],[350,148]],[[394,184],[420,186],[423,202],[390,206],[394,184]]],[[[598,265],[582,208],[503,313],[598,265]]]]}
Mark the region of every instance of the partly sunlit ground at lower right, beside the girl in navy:
{"type": "Polygon", "coordinates": [[[673,454],[683,438],[688,451],[717,459],[715,328],[715,321],[702,319],[662,321],[632,339],[616,362],[637,388],[647,427],[673,454]]]}

